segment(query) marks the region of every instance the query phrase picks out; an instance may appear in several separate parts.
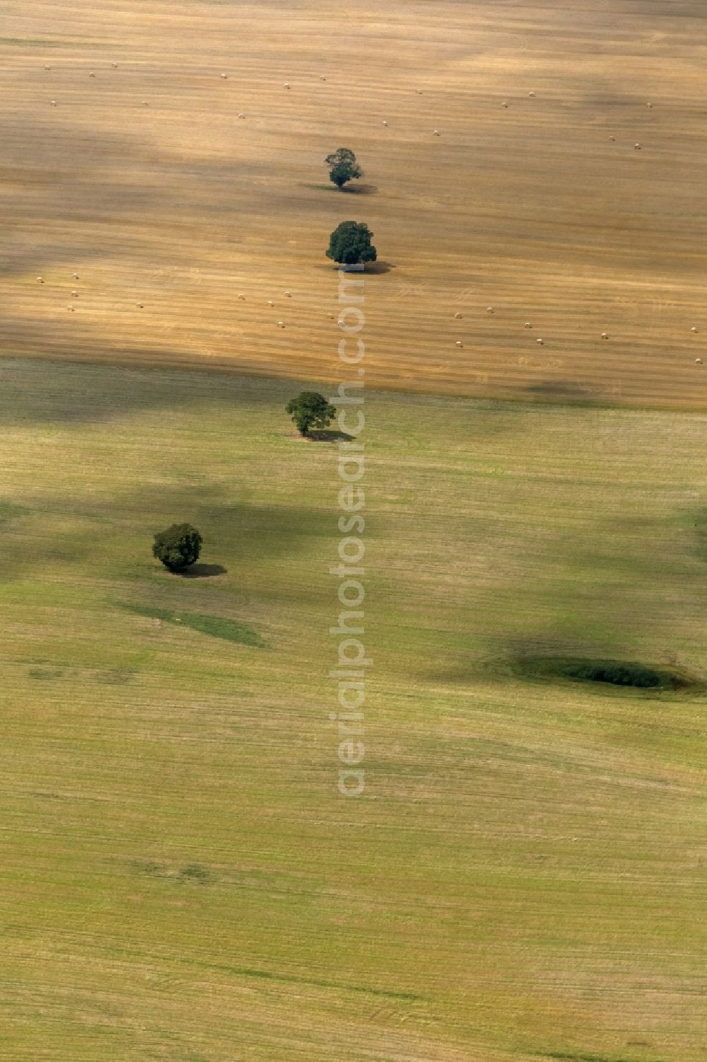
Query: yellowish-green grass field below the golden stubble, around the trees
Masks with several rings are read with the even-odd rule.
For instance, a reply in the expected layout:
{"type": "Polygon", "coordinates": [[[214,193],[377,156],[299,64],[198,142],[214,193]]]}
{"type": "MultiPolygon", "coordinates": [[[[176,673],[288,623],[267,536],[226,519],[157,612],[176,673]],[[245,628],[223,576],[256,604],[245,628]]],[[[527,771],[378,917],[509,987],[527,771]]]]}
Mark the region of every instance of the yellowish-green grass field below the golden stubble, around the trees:
{"type": "Polygon", "coordinates": [[[3,361],[0,1059],[704,1059],[707,416],[367,396],[345,800],[293,388],[3,361]]]}

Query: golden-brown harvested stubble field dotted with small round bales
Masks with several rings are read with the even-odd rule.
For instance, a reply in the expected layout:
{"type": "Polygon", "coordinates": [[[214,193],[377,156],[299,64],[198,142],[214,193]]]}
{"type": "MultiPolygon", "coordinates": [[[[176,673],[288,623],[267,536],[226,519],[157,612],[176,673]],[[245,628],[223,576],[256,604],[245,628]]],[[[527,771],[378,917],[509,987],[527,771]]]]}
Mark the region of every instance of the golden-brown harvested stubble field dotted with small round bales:
{"type": "Polygon", "coordinates": [[[355,218],[369,383],[704,407],[700,0],[35,0],[2,33],[5,353],[331,379],[355,218]]]}

